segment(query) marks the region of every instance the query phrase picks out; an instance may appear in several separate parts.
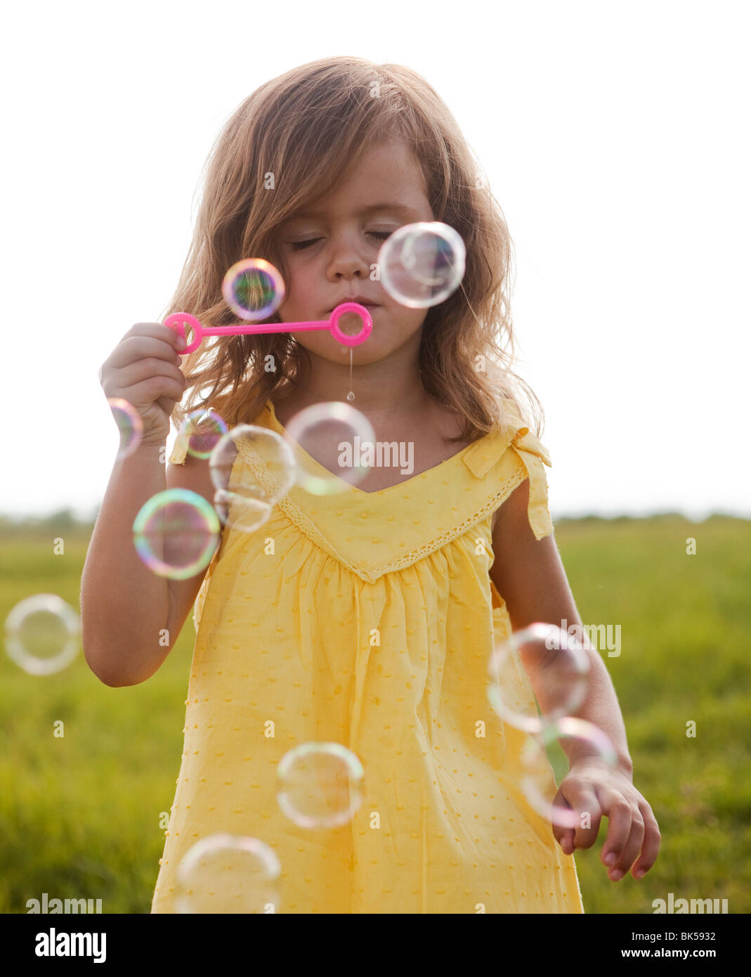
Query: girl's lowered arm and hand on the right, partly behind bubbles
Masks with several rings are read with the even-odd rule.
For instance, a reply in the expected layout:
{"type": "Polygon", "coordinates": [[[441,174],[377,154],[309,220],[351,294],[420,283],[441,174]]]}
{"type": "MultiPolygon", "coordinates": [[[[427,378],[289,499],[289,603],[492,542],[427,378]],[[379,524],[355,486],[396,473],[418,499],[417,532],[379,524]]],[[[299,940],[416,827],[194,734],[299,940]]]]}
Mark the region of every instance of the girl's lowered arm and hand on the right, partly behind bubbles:
{"type": "MultiPolygon", "coordinates": [[[[501,505],[493,531],[495,562],[490,576],[504,599],[512,629],[522,630],[535,621],[560,627],[563,620],[581,627],[554,536],[535,539],[528,503],[526,479],[501,505]]],[[[633,786],[626,730],[610,676],[596,650],[588,649],[587,655],[591,662],[587,697],[573,715],[603,730],[615,747],[617,766],[614,771],[605,769],[583,744],[563,741],[569,772],[556,803],[563,798],[576,811],[587,812],[591,827],[575,831],[556,827],[553,833],[566,854],[574,847],[589,848],[597,840],[601,816],[606,815],[609,825],[602,860],[609,877],[616,881],[633,863],[634,877],[640,878],[657,858],[659,828],[647,800],[633,786]]]]}

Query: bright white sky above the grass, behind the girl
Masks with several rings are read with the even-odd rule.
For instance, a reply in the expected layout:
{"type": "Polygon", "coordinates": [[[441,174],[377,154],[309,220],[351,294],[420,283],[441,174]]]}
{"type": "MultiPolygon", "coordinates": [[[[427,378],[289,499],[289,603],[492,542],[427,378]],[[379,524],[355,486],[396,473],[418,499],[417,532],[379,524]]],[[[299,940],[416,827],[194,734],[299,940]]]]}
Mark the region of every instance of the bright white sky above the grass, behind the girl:
{"type": "Polygon", "coordinates": [[[483,163],[554,519],[751,516],[749,26],[747,4],[664,0],[9,7],[0,512],[101,501],[99,368],[172,295],[214,139],[263,82],[341,54],[422,74],[483,163]]]}

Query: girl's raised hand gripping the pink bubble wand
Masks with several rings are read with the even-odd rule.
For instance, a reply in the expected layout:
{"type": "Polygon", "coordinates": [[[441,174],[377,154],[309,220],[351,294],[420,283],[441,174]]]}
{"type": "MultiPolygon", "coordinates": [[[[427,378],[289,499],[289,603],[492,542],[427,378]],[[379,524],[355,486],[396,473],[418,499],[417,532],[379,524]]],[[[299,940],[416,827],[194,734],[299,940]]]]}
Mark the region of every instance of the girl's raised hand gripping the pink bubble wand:
{"type": "Polygon", "coordinates": [[[186,391],[179,349],[185,349],[185,341],[174,329],[137,322],[99,371],[107,400],[121,397],[141,414],[142,445],[163,445],[170,433],[170,416],[186,391]]]}

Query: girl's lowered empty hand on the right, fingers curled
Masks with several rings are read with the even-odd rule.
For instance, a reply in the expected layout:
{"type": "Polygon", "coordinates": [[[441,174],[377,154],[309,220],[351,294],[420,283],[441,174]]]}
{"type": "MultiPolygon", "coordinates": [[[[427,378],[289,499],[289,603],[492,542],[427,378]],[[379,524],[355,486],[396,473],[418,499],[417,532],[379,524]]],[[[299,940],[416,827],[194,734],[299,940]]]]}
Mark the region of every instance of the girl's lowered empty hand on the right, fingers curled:
{"type": "MultiPolygon", "coordinates": [[[[652,809],[628,774],[596,760],[577,760],[571,764],[553,804],[571,808],[580,816],[589,813],[589,828],[553,826],[553,834],[565,855],[570,855],[574,848],[591,848],[597,841],[600,819],[605,815],[609,824],[601,861],[608,869],[608,878],[617,882],[632,863],[632,875],[641,878],[654,865],[660,831],[652,809]]],[[[580,823],[582,820],[580,817],[580,823]]]]}

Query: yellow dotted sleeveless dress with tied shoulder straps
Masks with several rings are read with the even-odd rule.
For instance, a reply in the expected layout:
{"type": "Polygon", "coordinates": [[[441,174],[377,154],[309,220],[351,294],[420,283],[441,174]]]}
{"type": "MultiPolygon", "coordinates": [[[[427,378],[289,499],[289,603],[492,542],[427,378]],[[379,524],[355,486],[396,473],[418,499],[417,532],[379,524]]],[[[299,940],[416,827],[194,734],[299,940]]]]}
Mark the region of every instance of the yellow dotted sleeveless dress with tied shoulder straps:
{"type": "MultiPolygon", "coordinates": [[[[259,530],[224,532],[193,611],[152,913],[176,912],[181,859],[216,833],[271,847],[279,913],[583,912],[573,857],[520,788],[526,736],[487,699],[494,642],[512,633],[488,573],[492,515],[528,478],[529,525],[553,531],[550,456],[512,416],[399,485],[296,485],[259,530]],[[342,743],[364,769],[343,827],[279,808],[279,761],[313,742],[342,743]]],[[[271,402],[254,424],[285,433],[271,402]]],[[[170,461],[185,461],[180,443],[170,461]]],[[[249,443],[232,470],[244,478],[272,483],[249,443]]],[[[525,675],[511,693],[530,701],[525,675]]]]}

